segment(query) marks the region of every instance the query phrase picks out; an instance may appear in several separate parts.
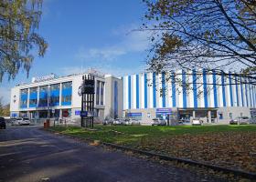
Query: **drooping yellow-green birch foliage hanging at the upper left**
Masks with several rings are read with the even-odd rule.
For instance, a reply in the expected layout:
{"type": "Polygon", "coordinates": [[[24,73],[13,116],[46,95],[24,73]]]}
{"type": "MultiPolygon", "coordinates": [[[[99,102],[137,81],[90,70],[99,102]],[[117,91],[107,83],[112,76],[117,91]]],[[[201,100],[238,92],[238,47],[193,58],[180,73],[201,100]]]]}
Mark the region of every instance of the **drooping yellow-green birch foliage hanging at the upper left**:
{"type": "Polygon", "coordinates": [[[15,78],[22,67],[27,75],[32,51],[44,56],[48,44],[37,34],[42,0],[0,0],[0,82],[15,78]]]}

